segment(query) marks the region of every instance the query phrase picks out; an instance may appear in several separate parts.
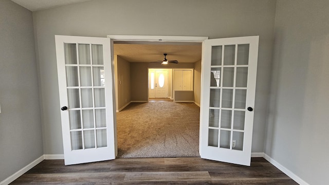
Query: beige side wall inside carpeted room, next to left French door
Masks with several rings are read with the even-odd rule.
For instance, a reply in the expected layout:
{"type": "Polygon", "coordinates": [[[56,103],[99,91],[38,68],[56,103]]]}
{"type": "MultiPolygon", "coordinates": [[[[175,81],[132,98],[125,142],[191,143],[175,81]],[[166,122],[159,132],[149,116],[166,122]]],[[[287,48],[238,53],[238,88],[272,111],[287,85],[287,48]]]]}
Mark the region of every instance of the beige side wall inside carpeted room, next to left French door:
{"type": "Polygon", "coordinates": [[[120,110],[131,101],[130,62],[120,56],[114,57],[116,109],[120,110]]]}

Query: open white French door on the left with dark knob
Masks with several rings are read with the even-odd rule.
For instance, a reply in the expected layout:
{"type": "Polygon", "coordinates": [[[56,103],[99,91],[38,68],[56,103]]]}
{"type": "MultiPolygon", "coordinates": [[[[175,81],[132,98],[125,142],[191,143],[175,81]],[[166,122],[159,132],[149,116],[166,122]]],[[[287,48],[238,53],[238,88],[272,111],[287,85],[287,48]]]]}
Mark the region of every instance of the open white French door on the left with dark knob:
{"type": "Polygon", "coordinates": [[[116,119],[110,40],[55,38],[65,165],[114,159],[116,119]]]}

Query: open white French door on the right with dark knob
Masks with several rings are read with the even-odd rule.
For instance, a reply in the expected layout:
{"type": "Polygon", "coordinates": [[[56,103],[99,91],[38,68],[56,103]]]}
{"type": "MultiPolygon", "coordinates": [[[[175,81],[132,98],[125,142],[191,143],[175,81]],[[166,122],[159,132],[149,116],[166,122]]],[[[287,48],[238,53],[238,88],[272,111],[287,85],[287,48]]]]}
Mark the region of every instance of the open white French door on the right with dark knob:
{"type": "Polygon", "coordinates": [[[259,36],[205,40],[200,156],[250,165],[259,36]]]}

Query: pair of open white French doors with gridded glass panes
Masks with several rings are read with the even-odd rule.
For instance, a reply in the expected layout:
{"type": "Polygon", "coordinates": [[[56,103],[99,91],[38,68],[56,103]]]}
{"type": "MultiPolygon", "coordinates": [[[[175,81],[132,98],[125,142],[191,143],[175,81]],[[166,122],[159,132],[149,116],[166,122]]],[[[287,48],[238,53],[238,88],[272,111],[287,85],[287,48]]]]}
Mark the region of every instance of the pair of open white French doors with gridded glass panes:
{"type": "MultiPolygon", "coordinates": [[[[150,38],[137,36],[140,37],[150,38]]],[[[126,39],[126,36],[117,38],[126,39]]],[[[131,38],[136,40],[134,36],[131,38]]],[[[204,40],[200,156],[250,165],[259,37],[170,39],[204,40]]],[[[56,35],[65,164],[116,157],[110,42],[108,38],[56,35]]],[[[158,81],[160,75],[155,79],[158,81]]]]}

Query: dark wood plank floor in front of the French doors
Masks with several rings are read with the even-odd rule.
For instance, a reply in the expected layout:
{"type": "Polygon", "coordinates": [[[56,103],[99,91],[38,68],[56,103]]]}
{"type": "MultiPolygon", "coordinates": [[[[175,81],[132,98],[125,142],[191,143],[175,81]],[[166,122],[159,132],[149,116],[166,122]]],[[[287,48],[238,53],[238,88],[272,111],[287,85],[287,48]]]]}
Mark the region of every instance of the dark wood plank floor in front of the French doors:
{"type": "Polygon", "coordinates": [[[125,158],[77,165],[44,160],[11,184],[298,184],[264,158],[251,167],[201,158],[125,158]]]}

